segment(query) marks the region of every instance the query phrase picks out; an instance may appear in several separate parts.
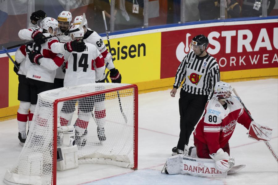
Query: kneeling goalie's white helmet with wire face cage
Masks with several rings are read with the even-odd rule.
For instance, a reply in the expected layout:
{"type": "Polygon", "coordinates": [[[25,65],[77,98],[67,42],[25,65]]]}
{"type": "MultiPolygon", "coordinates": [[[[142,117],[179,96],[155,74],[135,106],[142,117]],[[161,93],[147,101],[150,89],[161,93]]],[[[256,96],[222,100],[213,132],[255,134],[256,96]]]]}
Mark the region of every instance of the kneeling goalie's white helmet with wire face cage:
{"type": "Polygon", "coordinates": [[[233,88],[230,84],[219,81],[214,86],[213,97],[218,97],[218,100],[228,100],[232,101],[233,99],[233,88]]]}

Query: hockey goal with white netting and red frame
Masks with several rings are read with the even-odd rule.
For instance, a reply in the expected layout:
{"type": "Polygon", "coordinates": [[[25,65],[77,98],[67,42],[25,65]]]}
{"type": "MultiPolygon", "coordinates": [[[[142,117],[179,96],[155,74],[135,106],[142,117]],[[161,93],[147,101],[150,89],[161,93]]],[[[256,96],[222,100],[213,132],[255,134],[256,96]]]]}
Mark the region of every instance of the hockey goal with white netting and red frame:
{"type": "Polygon", "coordinates": [[[86,163],[136,170],[137,107],[138,89],[130,84],[83,84],[40,93],[26,142],[4,182],[56,184],[57,170],[86,163]]]}

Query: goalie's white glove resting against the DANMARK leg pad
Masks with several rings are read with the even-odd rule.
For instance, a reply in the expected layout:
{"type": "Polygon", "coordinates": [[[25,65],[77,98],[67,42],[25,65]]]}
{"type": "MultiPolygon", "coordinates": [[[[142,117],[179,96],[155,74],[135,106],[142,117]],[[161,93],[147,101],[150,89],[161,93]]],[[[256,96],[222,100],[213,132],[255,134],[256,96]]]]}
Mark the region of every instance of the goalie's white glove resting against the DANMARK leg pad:
{"type": "Polygon", "coordinates": [[[234,158],[229,157],[229,154],[224,152],[222,148],[219,148],[214,154],[209,154],[209,156],[215,161],[216,169],[221,172],[227,172],[234,166],[234,158]]]}

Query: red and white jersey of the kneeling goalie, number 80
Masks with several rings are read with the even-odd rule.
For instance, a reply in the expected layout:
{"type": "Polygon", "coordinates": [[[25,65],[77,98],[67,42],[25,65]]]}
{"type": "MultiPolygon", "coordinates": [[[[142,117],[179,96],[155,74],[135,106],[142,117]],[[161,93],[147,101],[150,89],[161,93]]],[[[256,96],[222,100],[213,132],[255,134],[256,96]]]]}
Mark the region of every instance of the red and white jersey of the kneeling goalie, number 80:
{"type": "Polygon", "coordinates": [[[205,109],[204,116],[194,131],[198,139],[208,146],[209,153],[216,153],[229,142],[237,123],[249,129],[251,119],[236,97],[224,109],[217,97],[212,98],[205,109]]]}

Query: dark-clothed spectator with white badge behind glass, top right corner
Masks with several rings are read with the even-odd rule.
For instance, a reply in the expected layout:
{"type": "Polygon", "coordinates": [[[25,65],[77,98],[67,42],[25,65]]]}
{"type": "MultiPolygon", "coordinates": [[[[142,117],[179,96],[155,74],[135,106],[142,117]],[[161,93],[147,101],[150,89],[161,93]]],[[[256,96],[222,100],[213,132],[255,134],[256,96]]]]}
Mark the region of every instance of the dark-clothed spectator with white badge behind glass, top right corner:
{"type": "MultiPolygon", "coordinates": [[[[267,15],[271,13],[275,5],[275,0],[267,1],[267,15]]],[[[262,15],[262,3],[260,0],[243,0],[242,17],[259,17],[262,15]],[[254,6],[256,3],[256,6],[254,6]]]]}

